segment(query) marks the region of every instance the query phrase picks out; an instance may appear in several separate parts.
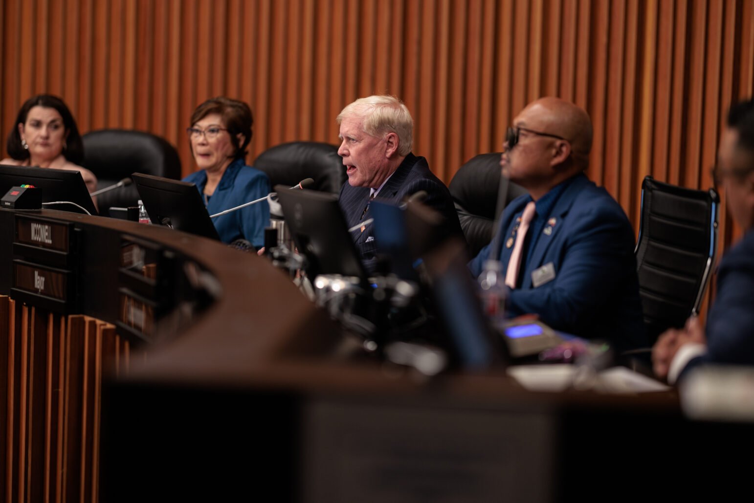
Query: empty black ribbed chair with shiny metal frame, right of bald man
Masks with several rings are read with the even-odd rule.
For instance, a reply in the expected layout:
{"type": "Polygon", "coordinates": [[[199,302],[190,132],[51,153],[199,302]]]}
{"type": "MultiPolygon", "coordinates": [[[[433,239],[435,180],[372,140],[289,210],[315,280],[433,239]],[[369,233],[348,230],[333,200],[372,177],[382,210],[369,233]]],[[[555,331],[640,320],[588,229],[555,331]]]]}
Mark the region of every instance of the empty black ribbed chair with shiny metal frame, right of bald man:
{"type": "Polygon", "coordinates": [[[650,342],[699,311],[717,253],[719,196],[646,176],[636,267],[650,342]]]}

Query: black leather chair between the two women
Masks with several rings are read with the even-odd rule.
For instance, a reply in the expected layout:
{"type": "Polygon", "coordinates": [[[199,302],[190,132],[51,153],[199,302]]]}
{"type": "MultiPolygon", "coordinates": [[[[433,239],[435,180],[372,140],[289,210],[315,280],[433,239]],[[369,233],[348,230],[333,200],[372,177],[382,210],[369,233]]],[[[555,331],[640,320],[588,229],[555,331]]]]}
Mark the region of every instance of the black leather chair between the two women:
{"type": "MultiPolygon", "coordinates": [[[[97,176],[98,189],[112,186],[131,175],[146,173],[180,179],[181,161],[175,147],[152,133],[134,130],[103,129],[81,136],[84,160],[81,166],[97,176]]],[[[110,207],[136,206],[136,186],[121,187],[97,196],[100,215],[110,207]]]]}

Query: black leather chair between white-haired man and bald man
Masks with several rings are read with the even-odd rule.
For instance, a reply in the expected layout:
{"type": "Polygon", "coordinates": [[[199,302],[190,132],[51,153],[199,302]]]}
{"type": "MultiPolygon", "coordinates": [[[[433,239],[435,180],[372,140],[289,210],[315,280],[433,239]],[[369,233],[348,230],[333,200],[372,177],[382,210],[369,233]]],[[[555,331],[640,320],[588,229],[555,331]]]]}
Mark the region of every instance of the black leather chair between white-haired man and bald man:
{"type": "Polygon", "coordinates": [[[492,241],[495,220],[507,204],[526,194],[500,170],[499,152],[476,155],[458,169],[448,186],[471,256],[492,241]]]}

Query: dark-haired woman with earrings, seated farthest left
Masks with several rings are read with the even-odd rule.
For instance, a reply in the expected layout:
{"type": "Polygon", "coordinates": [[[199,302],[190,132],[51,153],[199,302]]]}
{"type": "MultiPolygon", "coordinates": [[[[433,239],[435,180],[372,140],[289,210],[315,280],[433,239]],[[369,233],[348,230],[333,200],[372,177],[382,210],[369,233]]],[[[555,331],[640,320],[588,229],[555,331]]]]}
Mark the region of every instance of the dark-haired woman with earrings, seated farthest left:
{"type": "Polygon", "coordinates": [[[18,111],[15,124],[6,144],[10,158],[0,164],[77,170],[89,192],[97,190],[94,173],[76,164],[84,157],[84,146],[63,100],[51,94],[31,97],[18,111]]]}

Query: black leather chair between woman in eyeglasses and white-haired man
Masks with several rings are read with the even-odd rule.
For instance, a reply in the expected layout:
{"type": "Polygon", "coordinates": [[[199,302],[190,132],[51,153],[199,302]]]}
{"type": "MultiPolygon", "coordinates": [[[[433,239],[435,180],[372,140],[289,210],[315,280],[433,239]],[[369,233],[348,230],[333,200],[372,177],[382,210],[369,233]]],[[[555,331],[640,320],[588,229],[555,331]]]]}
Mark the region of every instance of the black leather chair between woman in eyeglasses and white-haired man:
{"type": "Polygon", "coordinates": [[[320,142],[290,142],[272,146],[254,159],[254,167],[267,173],[270,186],[294,186],[314,179],[309,189],[339,194],[348,178],[338,147],[320,142]]]}

